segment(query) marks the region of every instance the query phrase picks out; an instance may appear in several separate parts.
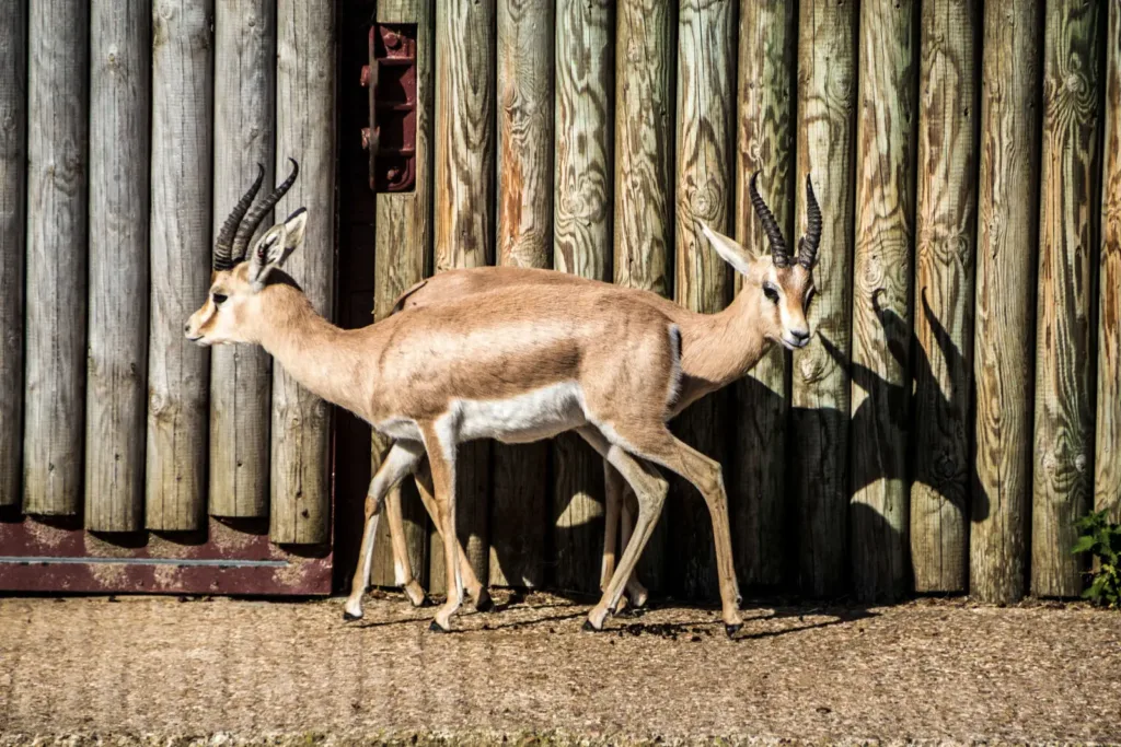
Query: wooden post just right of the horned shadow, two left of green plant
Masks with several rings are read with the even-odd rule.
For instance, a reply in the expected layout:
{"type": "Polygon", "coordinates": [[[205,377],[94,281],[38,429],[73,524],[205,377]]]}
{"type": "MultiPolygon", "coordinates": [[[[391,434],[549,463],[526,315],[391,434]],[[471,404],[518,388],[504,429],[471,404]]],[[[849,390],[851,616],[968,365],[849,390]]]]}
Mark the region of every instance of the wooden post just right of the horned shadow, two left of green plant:
{"type": "Polygon", "coordinates": [[[1003,604],[1023,596],[1028,578],[1040,21],[1035,0],[984,7],[970,596],[1003,604]]]}

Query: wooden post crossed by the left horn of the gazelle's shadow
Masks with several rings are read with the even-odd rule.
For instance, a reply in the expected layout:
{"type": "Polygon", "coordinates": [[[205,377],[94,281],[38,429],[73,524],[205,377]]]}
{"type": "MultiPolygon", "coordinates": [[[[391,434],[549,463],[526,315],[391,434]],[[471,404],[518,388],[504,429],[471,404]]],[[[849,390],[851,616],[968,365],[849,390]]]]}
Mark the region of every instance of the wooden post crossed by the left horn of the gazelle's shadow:
{"type": "Polygon", "coordinates": [[[898,598],[909,571],[917,20],[912,0],[861,3],[850,516],[852,580],[862,600],[898,598]]]}

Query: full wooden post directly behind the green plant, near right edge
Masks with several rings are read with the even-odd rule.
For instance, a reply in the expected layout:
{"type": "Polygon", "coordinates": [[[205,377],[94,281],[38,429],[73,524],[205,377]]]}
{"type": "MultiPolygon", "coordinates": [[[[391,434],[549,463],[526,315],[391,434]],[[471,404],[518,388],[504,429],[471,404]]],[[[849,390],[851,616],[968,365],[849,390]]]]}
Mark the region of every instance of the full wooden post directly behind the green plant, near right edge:
{"type": "Polygon", "coordinates": [[[1093,259],[1100,206],[1097,50],[1103,8],[1047,4],[1036,333],[1031,592],[1082,590],[1071,553],[1093,499],[1093,259]]]}

